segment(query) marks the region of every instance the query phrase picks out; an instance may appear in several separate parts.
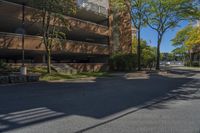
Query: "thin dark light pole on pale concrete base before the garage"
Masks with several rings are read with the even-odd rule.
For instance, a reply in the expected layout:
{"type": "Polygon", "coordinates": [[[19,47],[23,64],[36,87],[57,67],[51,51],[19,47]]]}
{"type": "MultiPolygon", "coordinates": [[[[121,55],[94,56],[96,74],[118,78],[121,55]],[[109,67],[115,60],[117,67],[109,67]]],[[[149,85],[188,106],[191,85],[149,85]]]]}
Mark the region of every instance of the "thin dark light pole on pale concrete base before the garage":
{"type": "Polygon", "coordinates": [[[22,3],[22,66],[20,69],[21,75],[27,74],[27,69],[25,67],[25,54],[24,54],[24,36],[25,36],[25,4],[22,3]]]}

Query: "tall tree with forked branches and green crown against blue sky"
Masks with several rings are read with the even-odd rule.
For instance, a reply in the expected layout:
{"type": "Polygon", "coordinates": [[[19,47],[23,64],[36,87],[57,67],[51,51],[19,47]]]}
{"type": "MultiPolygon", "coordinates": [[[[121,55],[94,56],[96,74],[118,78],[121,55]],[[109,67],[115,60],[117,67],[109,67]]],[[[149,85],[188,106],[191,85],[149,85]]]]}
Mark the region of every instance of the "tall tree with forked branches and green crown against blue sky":
{"type": "Polygon", "coordinates": [[[167,30],[178,26],[182,20],[199,15],[193,0],[149,0],[147,24],[157,32],[156,69],[160,69],[160,46],[167,30]]]}

